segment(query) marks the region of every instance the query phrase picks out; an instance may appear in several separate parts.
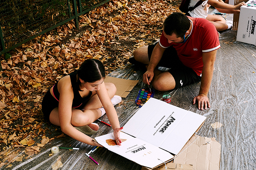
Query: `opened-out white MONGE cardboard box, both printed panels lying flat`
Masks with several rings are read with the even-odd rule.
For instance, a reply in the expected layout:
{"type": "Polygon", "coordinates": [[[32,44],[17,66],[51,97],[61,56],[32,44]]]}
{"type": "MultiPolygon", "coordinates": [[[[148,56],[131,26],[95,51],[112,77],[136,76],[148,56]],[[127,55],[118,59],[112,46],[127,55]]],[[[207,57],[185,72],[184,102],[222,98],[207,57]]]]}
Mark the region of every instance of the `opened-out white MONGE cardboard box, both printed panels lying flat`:
{"type": "Polygon", "coordinates": [[[178,154],[206,117],[200,114],[150,98],[123,126],[122,146],[110,146],[106,139],[113,133],[95,137],[95,140],[129,160],[149,169],[168,162],[178,154]]]}

